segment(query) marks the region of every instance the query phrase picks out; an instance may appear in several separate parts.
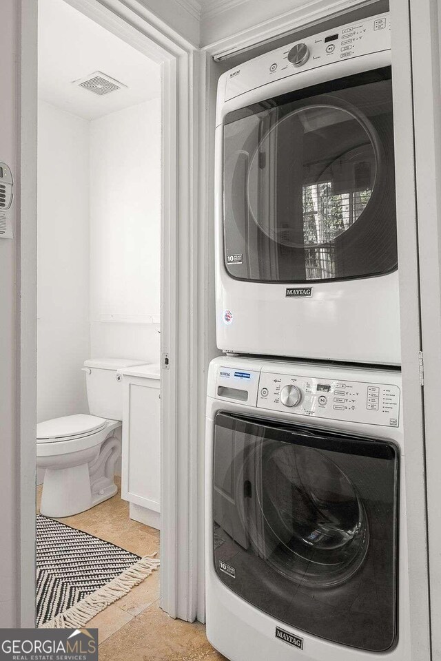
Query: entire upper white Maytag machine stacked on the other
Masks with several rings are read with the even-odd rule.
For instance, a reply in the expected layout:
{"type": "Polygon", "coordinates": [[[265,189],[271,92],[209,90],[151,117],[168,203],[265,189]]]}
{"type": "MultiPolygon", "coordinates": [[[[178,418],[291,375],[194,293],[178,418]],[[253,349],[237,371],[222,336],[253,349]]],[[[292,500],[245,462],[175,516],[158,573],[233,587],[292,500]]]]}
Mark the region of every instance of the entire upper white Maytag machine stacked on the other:
{"type": "Polygon", "coordinates": [[[400,364],[389,14],[220,76],[225,352],[400,364]]]}

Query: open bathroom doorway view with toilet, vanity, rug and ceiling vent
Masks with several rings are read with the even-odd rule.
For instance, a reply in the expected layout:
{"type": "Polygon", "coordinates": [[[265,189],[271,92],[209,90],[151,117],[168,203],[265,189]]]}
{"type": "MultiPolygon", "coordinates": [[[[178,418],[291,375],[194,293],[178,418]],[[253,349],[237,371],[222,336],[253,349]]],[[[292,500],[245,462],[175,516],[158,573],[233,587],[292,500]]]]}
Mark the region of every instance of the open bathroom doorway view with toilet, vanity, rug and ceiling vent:
{"type": "Polygon", "coordinates": [[[161,62],[63,0],[38,54],[37,626],[102,642],[160,596],[161,62]]]}

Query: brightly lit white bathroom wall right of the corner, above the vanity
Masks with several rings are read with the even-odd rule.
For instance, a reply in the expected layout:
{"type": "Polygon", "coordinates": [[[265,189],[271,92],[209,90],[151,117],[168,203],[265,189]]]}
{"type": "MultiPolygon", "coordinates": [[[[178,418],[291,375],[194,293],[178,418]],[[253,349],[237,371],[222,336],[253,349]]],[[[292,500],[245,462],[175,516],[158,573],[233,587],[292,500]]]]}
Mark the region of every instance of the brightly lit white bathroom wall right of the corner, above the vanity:
{"type": "Polygon", "coordinates": [[[90,123],[91,355],[159,360],[161,107],[90,123]],[[114,318],[119,321],[111,322],[114,318]],[[148,321],[157,323],[145,323],[148,321]]]}

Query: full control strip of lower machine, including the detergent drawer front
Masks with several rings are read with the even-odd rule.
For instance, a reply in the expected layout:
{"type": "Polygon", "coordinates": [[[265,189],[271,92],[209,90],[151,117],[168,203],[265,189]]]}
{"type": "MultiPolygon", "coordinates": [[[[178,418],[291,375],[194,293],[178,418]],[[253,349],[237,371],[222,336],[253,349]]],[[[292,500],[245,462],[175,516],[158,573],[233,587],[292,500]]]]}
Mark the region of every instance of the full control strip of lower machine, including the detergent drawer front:
{"type": "Polygon", "coordinates": [[[296,370],[289,364],[258,366],[254,361],[225,361],[216,366],[212,396],[252,408],[318,419],[400,426],[401,391],[396,373],[339,372],[318,366],[296,370]],[[387,383],[389,379],[392,383],[387,383]]]}

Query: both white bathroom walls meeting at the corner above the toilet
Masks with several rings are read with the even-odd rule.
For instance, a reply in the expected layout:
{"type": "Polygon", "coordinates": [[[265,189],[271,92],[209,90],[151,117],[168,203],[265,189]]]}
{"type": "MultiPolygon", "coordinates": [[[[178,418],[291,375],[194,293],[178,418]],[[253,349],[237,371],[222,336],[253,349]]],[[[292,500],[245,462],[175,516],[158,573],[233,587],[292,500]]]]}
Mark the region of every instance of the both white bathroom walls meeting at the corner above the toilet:
{"type": "Polygon", "coordinates": [[[88,410],[85,358],[159,359],[159,99],[92,122],[39,101],[38,176],[41,421],[88,410]]]}

